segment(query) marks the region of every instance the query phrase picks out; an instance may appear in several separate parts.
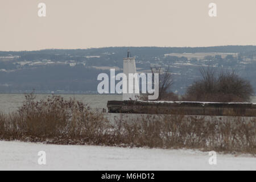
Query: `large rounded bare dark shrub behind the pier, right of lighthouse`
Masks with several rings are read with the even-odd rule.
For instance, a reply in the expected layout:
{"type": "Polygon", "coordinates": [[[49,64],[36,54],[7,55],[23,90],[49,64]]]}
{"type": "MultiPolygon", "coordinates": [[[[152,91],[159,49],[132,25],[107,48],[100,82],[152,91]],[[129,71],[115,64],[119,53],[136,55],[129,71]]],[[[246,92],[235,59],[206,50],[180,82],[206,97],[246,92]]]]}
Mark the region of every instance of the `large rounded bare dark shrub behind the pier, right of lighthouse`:
{"type": "Polygon", "coordinates": [[[250,82],[233,72],[216,74],[214,69],[200,69],[201,80],[188,87],[184,100],[208,102],[249,102],[254,91],[250,82]]]}

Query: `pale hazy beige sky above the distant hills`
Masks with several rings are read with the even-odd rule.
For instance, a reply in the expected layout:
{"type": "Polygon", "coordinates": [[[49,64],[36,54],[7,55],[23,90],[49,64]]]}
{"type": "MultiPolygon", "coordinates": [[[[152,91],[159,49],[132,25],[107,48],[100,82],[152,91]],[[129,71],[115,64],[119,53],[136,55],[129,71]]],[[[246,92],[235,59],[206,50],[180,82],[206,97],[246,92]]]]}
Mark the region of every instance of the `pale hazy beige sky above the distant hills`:
{"type": "Polygon", "coordinates": [[[256,1],[1,0],[0,24],[1,51],[256,45],[256,1]],[[46,17],[38,16],[40,2],[46,17]]]}

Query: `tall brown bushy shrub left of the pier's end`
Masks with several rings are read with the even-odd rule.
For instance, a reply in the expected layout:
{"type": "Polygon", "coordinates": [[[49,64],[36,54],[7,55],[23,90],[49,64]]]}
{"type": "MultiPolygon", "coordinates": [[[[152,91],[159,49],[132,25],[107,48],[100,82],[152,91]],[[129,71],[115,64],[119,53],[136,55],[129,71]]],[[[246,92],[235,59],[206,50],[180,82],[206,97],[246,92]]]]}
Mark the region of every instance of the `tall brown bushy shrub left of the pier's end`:
{"type": "Polygon", "coordinates": [[[73,98],[67,101],[60,96],[49,96],[35,101],[34,94],[28,94],[17,113],[0,116],[0,135],[38,141],[57,139],[57,143],[82,138],[84,142],[101,143],[109,139],[108,124],[102,114],[94,113],[73,98]]]}

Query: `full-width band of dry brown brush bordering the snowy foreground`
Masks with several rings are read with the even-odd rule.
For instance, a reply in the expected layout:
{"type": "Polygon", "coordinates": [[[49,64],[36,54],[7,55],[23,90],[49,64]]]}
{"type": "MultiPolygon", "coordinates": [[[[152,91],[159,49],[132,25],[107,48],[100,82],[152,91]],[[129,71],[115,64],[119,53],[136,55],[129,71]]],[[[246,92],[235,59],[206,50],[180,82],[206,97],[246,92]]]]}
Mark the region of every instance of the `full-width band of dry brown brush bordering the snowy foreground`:
{"type": "Polygon", "coordinates": [[[0,114],[0,139],[55,144],[198,148],[256,154],[256,122],[242,117],[142,115],[110,123],[79,101],[51,96],[35,101],[33,94],[19,110],[0,114]]]}

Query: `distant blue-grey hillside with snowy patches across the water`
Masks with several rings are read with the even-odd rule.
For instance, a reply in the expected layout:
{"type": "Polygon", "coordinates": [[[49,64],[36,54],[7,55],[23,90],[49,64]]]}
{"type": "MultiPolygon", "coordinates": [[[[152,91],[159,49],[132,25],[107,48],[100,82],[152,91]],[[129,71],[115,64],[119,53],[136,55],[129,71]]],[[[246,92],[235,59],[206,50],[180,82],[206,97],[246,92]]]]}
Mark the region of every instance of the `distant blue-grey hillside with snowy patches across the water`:
{"type": "MultiPolygon", "coordinates": [[[[44,49],[0,51],[0,92],[91,93],[97,90],[97,75],[110,67],[122,72],[128,47],[90,49],[44,49]]],[[[138,72],[150,67],[170,66],[174,75],[172,91],[183,94],[199,78],[200,67],[216,71],[234,69],[256,88],[256,46],[216,47],[130,47],[138,72]]]]}

